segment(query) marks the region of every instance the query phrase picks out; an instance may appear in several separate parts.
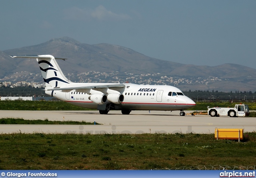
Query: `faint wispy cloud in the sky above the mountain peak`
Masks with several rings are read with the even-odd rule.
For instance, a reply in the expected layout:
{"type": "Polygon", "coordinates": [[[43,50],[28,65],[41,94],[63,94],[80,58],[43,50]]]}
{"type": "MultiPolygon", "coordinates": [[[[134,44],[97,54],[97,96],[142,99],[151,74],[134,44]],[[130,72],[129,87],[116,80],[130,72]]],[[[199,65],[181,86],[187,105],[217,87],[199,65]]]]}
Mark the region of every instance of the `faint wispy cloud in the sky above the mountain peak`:
{"type": "Polygon", "coordinates": [[[116,14],[110,10],[107,10],[102,5],[96,7],[94,10],[73,7],[65,10],[64,14],[65,19],[69,20],[119,21],[131,19],[131,17],[127,14],[116,14]]]}

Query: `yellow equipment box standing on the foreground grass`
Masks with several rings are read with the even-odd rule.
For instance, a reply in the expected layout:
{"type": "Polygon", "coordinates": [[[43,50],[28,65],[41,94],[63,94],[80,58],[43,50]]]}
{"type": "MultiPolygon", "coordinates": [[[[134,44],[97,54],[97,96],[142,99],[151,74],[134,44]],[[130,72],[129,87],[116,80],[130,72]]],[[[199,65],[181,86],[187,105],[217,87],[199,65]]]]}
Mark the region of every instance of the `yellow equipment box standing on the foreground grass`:
{"type": "Polygon", "coordinates": [[[215,128],[215,138],[229,140],[243,140],[244,129],[242,128],[215,128]]]}

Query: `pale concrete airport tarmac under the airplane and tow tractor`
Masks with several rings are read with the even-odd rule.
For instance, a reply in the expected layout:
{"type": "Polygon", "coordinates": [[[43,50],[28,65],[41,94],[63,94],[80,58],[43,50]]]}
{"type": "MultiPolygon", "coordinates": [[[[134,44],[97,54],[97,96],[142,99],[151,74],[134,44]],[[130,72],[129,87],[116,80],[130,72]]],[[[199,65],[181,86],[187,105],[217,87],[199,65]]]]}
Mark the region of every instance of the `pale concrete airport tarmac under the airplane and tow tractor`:
{"type": "MultiPolygon", "coordinates": [[[[190,111],[185,111],[189,113],[190,111]]],[[[5,125],[0,133],[76,133],[76,134],[142,134],[142,133],[214,133],[215,128],[242,128],[244,132],[256,130],[256,118],[211,117],[208,115],[180,116],[180,111],[121,111],[99,114],[98,111],[14,111],[0,110],[0,118],[29,120],[74,120],[98,122],[102,125],[5,125]]]]}

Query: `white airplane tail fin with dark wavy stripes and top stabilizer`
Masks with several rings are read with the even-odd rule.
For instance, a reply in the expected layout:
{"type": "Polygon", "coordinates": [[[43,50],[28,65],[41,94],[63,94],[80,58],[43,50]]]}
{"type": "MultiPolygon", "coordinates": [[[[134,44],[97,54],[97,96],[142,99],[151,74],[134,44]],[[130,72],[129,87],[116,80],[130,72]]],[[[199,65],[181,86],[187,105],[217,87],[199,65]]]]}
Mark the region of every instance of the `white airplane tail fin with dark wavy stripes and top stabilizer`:
{"type": "Polygon", "coordinates": [[[72,83],[68,80],[56,59],[66,60],[66,58],[54,58],[52,55],[39,55],[39,56],[10,56],[12,58],[35,58],[39,64],[42,76],[46,87],[59,87],[72,83]]]}

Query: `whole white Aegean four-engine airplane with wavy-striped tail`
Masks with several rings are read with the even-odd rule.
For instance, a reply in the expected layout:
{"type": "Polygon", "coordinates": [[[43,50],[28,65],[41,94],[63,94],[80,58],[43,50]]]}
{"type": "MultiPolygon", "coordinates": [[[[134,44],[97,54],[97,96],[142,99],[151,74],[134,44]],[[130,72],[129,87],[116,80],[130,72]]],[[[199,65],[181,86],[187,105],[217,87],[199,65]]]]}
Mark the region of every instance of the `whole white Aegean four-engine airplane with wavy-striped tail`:
{"type": "Polygon", "coordinates": [[[70,104],[97,109],[100,114],[108,114],[110,110],[121,110],[122,114],[130,114],[132,110],[180,110],[180,116],[184,116],[184,109],[196,105],[174,86],[71,82],[56,61],[66,58],[52,55],[10,57],[36,59],[46,83],[46,94],[70,104]]]}

